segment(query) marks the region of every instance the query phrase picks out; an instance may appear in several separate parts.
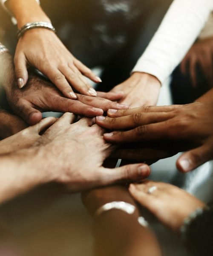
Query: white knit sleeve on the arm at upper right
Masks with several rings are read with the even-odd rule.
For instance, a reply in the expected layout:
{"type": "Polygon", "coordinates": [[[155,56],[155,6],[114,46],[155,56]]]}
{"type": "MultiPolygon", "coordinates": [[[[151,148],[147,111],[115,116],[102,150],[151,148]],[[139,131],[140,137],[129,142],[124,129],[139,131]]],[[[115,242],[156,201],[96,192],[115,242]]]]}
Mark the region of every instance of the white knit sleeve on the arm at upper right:
{"type": "Polygon", "coordinates": [[[145,72],[163,83],[184,58],[204,27],[213,0],[174,0],[132,72],[145,72]]]}

